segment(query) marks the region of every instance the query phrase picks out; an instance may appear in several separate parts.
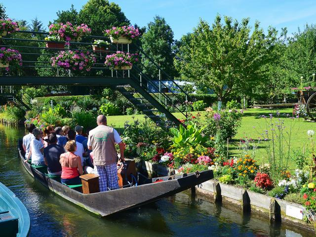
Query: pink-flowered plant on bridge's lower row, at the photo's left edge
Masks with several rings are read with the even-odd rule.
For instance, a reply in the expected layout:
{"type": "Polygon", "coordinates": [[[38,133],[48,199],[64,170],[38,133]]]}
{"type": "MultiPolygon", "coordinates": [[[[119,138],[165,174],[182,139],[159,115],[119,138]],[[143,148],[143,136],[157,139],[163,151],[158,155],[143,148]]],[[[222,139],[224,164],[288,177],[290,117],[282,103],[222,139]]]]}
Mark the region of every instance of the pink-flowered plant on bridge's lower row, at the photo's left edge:
{"type": "Polygon", "coordinates": [[[22,56],[18,50],[11,48],[0,48],[0,68],[9,71],[9,66],[22,66],[22,56]]]}

